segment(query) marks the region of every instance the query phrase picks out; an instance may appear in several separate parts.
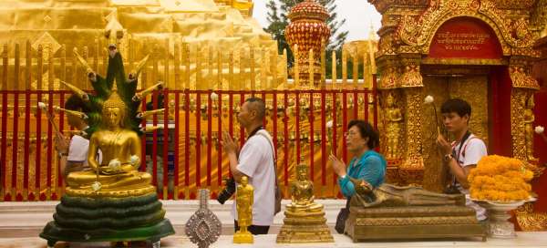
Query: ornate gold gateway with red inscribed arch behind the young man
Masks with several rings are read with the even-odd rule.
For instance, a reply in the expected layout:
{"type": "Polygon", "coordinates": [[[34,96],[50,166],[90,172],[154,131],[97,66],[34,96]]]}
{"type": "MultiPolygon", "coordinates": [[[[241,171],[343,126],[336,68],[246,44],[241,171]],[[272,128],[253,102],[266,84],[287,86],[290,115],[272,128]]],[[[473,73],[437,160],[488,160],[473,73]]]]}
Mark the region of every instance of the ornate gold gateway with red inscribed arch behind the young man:
{"type": "Polygon", "coordinates": [[[381,144],[397,151],[388,158],[387,181],[444,188],[447,171],[435,144],[433,110],[423,103],[427,95],[438,112],[448,98],[468,100],[470,129],[489,153],[523,160],[539,177],[532,137],[539,84],[531,70],[540,55],[532,46],[547,20],[544,4],[536,5],[542,1],[368,2],[383,15],[376,54],[380,133],[387,134],[381,144]]]}

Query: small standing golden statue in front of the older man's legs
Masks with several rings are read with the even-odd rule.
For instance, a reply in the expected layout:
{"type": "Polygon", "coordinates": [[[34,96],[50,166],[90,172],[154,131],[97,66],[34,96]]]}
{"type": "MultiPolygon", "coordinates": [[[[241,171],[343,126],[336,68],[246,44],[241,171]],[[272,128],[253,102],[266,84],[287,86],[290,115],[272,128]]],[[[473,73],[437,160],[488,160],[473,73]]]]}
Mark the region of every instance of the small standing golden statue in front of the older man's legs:
{"type": "Polygon", "coordinates": [[[253,192],[249,179],[243,176],[242,183],[237,185],[235,196],[240,230],[233,234],[233,243],[253,243],[253,234],[247,230],[247,227],[253,224],[253,192]]]}

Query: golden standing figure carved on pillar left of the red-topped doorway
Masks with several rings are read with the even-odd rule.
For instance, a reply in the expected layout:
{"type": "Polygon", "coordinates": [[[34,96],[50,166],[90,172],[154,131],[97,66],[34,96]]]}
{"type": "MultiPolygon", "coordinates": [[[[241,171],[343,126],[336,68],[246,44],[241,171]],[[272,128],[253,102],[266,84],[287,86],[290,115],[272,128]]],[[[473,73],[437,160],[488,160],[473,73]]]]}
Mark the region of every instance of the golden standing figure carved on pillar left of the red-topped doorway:
{"type": "Polygon", "coordinates": [[[403,121],[403,115],[401,110],[397,108],[395,104],[395,98],[391,93],[387,95],[387,159],[397,159],[399,156],[398,143],[401,135],[401,124],[403,121]]]}

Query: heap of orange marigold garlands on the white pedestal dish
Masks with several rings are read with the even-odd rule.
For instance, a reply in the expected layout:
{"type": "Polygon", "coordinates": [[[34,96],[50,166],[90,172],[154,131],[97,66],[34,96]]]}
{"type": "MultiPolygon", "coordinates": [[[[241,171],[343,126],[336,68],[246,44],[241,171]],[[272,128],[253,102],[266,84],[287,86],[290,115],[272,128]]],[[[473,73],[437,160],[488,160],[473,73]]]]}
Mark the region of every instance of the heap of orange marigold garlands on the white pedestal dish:
{"type": "Polygon", "coordinates": [[[521,160],[499,155],[483,157],[470,171],[471,198],[496,202],[512,202],[530,198],[532,186],[527,183],[533,172],[521,160]]]}

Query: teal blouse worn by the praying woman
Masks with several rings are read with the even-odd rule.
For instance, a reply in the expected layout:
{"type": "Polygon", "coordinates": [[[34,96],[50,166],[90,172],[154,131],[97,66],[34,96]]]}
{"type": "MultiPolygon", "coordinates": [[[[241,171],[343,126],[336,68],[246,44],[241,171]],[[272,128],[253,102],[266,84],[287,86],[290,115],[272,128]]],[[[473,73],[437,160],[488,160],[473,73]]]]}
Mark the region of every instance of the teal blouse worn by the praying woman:
{"type": "Polygon", "coordinates": [[[338,185],[346,197],[351,197],[356,193],[356,188],[353,182],[349,180],[349,177],[365,180],[373,187],[382,184],[386,177],[387,161],[376,151],[368,150],[358,159],[354,157],[349,162],[344,179],[338,178],[338,185]]]}

